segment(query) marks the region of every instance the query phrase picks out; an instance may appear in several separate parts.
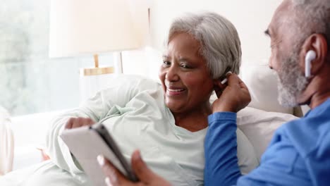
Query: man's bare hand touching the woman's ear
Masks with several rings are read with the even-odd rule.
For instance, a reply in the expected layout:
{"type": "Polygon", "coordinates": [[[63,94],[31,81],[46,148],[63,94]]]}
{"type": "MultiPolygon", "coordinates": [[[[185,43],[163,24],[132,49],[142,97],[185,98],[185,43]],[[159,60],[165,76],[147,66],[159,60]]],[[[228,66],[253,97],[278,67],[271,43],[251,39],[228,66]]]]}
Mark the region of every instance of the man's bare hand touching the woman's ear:
{"type": "Polygon", "coordinates": [[[216,112],[238,112],[250,103],[250,92],[238,75],[228,73],[228,85],[218,85],[214,87],[218,99],[212,104],[213,113],[216,112]]]}

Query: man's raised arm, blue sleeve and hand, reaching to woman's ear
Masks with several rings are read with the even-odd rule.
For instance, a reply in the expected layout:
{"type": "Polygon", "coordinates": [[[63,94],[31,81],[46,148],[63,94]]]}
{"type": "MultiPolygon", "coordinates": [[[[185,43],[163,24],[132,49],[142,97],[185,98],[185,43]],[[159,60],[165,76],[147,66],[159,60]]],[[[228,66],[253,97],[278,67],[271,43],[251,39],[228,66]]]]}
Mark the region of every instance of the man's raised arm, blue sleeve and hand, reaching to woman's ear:
{"type": "Polygon", "coordinates": [[[216,82],[218,99],[212,104],[205,137],[204,184],[236,185],[240,177],[237,158],[236,113],[251,101],[250,93],[236,74],[227,73],[228,85],[216,82]]]}

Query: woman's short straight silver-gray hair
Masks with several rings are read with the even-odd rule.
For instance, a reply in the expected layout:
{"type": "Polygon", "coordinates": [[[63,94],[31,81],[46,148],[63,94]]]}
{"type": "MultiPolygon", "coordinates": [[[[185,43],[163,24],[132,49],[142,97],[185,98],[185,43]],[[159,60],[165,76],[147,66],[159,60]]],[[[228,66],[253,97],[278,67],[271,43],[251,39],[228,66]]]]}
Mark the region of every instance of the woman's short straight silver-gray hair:
{"type": "Polygon", "coordinates": [[[216,13],[187,13],[171,24],[166,44],[178,32],[192,35],[200,42],[200,55],[207,61],[212,77],[219,78],[229,70],[239,73],[242,51],[234,25],[216,13]]]}

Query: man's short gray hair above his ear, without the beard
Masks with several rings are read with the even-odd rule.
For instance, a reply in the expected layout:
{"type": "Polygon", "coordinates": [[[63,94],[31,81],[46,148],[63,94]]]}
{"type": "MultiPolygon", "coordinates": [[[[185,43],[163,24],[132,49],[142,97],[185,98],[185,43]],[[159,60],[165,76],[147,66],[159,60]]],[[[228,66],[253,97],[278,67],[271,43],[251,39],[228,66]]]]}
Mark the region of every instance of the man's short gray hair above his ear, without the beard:
{"type": "Polygon", "coordinates": [[[322,34],[330,44],[330,1],[291,0],[295,42],[302,43],[313,33],[322,34]]]}

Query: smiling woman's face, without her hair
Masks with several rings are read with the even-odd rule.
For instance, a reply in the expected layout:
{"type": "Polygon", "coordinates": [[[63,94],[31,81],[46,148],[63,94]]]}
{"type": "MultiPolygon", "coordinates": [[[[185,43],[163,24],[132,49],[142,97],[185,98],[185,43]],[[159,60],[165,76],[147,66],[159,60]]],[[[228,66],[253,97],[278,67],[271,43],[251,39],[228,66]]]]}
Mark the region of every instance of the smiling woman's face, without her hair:
{"type": "Polygon", "coordinates": [[[213,78],[200,55],[200,42],[192,35],[178,32],[171,37],[163,55],[159,79],[165,104],[172,113],[185,113],[209,107],[213,78]]]}

